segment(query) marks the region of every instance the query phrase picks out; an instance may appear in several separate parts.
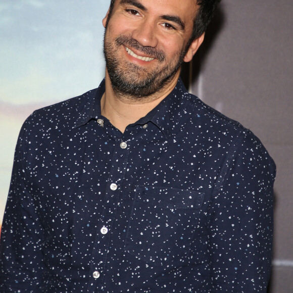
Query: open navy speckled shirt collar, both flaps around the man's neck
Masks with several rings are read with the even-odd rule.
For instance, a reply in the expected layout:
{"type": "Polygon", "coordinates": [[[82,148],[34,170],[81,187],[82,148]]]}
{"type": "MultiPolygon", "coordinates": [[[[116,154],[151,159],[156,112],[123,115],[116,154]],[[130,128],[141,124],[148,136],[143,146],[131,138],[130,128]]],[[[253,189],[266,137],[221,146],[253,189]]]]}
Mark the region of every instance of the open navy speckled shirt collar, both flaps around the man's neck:
{"type": "MultiPolygon", "coordinates": [[[[105,92],[105,79],[100,86],[94,90],[86,92],[83,96],[87,97],[84,109],[75,122],[74,128],[86,124],[90,119],[99,119],[101,115],[101,99],[105,92]]],[[[179,78],[175,88],[165,97],[165,99],[152,111],[140,118],[135,124],[146,124],[150,121],[154,123],[163,134],[168,137],[175,131],[176,126],[182,118],[182,111],[185,111],[187,99],[183,95],[187,90],[179,78]]]]}

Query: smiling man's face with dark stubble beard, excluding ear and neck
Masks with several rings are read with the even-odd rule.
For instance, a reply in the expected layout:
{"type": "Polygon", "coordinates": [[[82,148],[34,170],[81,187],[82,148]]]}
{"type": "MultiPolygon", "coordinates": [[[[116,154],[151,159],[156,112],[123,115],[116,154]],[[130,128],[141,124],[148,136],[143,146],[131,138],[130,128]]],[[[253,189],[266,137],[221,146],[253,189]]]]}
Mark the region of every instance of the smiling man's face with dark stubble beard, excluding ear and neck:
{"type": "Polygon", "coordinates": [[[196,10],[194,0],[116,0],[103,20],[106,66],[116,93],[149,96],[178,77],[182,61],[189,61],[196,10]]]}

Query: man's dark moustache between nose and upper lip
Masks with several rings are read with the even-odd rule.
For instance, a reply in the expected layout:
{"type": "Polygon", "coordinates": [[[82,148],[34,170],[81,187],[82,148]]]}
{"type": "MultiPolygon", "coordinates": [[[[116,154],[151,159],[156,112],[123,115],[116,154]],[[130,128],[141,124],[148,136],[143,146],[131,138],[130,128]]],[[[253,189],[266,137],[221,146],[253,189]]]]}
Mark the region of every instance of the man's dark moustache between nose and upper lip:
{"type": "Polygon", "coordinates": [[[158,59],[160,62],[163,62],[166,58],[166,55],[163,51],[150,46],[142,46],[137,40],[133,39],[130,36],[119,36],[116,38],[115,43],[116,45],[132,47],[135,50],[144,53],[145,55],[158,59]]]}

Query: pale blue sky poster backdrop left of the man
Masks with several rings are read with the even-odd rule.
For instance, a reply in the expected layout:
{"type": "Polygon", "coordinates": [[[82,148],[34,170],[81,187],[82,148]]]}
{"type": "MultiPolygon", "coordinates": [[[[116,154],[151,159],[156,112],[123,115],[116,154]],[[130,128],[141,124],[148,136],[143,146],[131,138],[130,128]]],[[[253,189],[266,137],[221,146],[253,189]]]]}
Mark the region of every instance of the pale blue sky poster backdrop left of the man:
{"type": "Polygon", "coordinates": [[[0,0],[0,221],[22,123],[97,87],[110,0],[0,0]]]}

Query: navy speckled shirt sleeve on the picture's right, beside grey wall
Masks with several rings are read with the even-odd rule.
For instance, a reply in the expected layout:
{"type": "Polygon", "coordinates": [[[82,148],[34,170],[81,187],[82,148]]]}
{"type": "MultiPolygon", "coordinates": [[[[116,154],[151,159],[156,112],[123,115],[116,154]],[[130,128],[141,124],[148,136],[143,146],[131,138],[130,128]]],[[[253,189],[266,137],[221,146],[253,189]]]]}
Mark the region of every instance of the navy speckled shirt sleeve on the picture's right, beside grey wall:
{"type": "Polygon", "coordinates": [[[212,292],[267,292],[275,164],[251,132],[232,146],[214,189],[212,292]]]}

